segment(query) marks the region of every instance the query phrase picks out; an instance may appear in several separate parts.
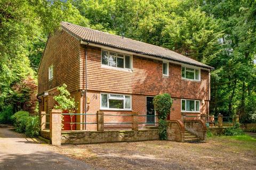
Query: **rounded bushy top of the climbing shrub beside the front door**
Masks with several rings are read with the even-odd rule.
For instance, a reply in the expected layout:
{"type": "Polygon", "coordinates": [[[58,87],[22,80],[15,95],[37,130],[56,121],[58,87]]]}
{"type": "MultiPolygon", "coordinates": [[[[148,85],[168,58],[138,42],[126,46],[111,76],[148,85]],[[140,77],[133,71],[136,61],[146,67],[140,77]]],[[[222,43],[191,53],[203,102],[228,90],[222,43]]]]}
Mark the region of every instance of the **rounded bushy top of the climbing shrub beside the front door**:
{"type": "Polygon", "coordinates": [[[161,94],[154,97],[154,108],[159,118],[166,120],[167,115],[171,112],[172,98],[169,94],[161,94]]]}

